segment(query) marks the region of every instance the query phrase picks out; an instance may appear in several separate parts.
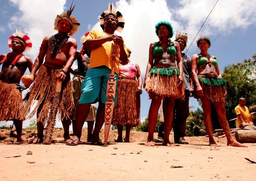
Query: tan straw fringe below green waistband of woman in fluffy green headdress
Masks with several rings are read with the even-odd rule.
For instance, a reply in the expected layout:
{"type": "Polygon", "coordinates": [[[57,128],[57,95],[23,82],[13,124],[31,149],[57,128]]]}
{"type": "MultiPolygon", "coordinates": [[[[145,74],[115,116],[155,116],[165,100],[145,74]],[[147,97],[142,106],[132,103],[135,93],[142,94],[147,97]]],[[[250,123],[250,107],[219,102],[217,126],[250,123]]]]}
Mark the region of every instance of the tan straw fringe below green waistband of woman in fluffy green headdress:
{"type": "Polygon", "coordinates": [[[171,76],[157,74],[150,74],[146,79],[145,90],[149,93],[150,99],[164,99],[165,97],[183,98],[183,85],[177,87],[178,76],[173,74],[171,76]]]}

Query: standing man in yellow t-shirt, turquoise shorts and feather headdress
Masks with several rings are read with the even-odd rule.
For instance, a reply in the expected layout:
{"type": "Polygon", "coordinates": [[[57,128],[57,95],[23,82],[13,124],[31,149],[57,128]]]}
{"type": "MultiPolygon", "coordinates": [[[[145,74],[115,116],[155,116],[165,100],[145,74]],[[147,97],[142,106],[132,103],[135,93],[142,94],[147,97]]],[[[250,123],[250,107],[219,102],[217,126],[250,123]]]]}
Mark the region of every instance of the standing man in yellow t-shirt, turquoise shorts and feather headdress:
{"type": "Polygon", "coordinates": [[[92,30],[83,43],[86,49],[91,50],[90,66],[82,83],[82,95],[77,108],[74,136],[66,141],[68,145],[78,145],[85,119],[90,111],[90,105],[96,102],[99,102],[99,106],[91,144],[104,144],[99,138],[99,133],[104,123],[105,102],[107,100],[106,85],[111,73],[112,43],[118,44],[120,48],[120,58],[115,63],[116,80],[118,80],[119,61],[127,62],[128,60],[123,38],[114,34],[116,30],[120,32],[124,27],[122,14],[115,10],[112,4],[109,6],[109,10],[105,10],[101,14],[100,22],[103,31],[92,30]]]}

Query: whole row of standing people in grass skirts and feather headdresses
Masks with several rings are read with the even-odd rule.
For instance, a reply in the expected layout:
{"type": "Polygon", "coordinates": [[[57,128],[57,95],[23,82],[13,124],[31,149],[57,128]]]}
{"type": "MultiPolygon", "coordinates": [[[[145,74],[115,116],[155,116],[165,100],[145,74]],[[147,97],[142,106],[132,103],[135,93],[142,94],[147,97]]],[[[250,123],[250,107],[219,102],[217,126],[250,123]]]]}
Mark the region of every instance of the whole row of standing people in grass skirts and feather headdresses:
{"type": "MultiPolygon", "coordinates": [[[[57,16],[55,29],[58,33],[43,39],[34,64],[29,57],[22,55],[22,52],[29,51],[32,44],[29,37],[21,32],[9,38],[11,52],[0,56],[0,64],[3,64],[0,73],[0,107],[3,111],[0,113],[0,120],[14,120],[17,141],[29,141],[21,134],[22,121],[36,114],[37,135],[29,142],[49,144],[51,140],[44,135],[44,127],[49,117],[54,117],[58,110],[66,144],[79,144],[83,125],[87,121],[87,142],[103,145],[99,133],[106,114],[106,93],[111,79],[109,75],[111,70],[114,70],[113,89],[116,91],[112,93],[115,104],[112,110],[112,124],[117,125],[118,129],[116,142],[130,142],[131,128],[140,124],[140,94],[144,87],[151,99],[146,146],[155,145],[154,129],[159,108],[163,109],[163,115],[160,115],[163,117],[163,140],[160,142],[165,146],[175,146],[169,140],[174,123],[174,143],[188,144],[184,139],[185,123],[192,91],[195,98],[200,99],[203,104],[209,145],[217,146],[212,136],[210,118],[210,105],[213,103],[226,134],[227,145],[244,146],[235,141],[228,126],[224,107],[227,94],[225,80],[221,76],[217,58],[208,53],[211,46],[209,38],[198,39],[200,53],[190,59],[183,53],[187,35],[178,33],[175,41],[172,41],[172,24],[167,21],[158,22],[155,25],[155,33],[159,41],[150,44],[143,82],[139,65],[129,59],[132,51],[126,47],[122,36],[115,34],[115,31],[121,32],[124,28],[122,13],[110,4],[109,9],[100,16],[102,31],[93,29],[86,33],[82,40],[83,48],[77,51],[77,41],[71,36],[78,31],[79,23],[72,16],[73,10],[74,7],[71,7],[57,16]],[[111,62],[112,44],[117,45],[119,49],[114,63],[111,62]],[[78,68],[72,70],[71,66],[75,60],[78,68]],[[26,68],[29,68],[31,73],[23,76],[26,68]],[[72,81],[70,73],[74,74],[72,81]],[[21,80],[25,87],[18,85],[21,80]],[[21,91],[24,88],[29,88],[29,91],[22,100],[21,91]],[[56,97],[58,102],[53,104],[56,97]],[[34,100],[37,100],[37,103],[31,111],[34,100]],[[96,102],[99,103],[97,112],[94,104],[96,102]],[[69,134],[71,121],[72,137],[69,134]],[[124,126],[126,136],[123,139],[124,126]]],[[[53,126],[47,125],[45,134],[50,132],[53,126]]]]}

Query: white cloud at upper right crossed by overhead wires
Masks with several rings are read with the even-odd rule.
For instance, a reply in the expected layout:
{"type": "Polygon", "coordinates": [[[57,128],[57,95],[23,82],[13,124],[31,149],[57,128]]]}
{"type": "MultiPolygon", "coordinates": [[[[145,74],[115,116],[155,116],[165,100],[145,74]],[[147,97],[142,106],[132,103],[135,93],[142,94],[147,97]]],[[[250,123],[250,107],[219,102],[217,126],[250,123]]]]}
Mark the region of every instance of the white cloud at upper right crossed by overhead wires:
{"type": "MultiPolygon", "coordinates": [[[[181,0],[179,3],[181,6],[177,9],[176,15],[180,20],[185,22],[182,24],[183,29],[188,33],[188,39],[192,39],[192,37],[195,37],[216,1],[181,0]]],[[[230,23],[225,27],[224,33],[230,33],[234,28],[244,29],[251,24],[255,24],[255,8],[256,4],[253,0],[219,1],[212,10],[206,24],[201,29],[199,36],[210,36],[214,34],[217,36],[231,18],[230,23]]]]}

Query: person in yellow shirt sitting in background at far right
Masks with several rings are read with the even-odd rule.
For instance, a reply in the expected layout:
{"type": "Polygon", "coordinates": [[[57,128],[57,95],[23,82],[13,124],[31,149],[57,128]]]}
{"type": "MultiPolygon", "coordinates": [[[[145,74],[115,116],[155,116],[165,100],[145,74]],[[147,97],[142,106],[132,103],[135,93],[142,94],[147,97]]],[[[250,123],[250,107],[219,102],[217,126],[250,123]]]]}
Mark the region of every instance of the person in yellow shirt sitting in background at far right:
{"type": "Polygon", "coordinates": [[[239,98],[239,104],[235,108],[239,127],[249,128],[252,125],[251,114],[249,109],[245,106],[245,98],[239,98]]]}

